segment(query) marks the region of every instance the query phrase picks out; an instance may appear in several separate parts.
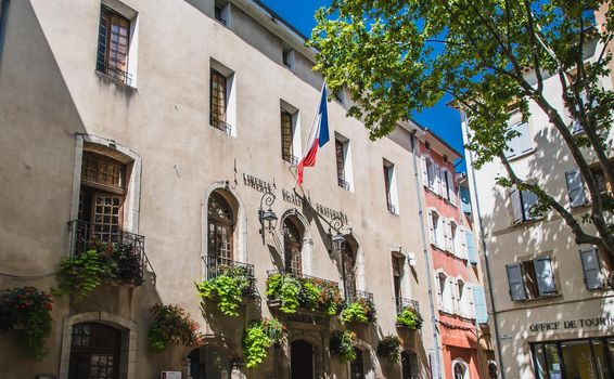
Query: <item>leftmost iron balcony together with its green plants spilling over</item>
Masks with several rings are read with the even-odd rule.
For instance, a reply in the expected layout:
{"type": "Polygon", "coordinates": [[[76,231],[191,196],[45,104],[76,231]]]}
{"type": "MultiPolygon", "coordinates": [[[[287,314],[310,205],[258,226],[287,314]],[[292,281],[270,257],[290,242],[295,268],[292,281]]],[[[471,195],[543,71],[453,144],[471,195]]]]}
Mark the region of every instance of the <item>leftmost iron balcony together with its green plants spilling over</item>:
{"type": "Polygon", "coordinates": [[[145,273],[155,283],[144,236],[80,220],[69,226],[71,254],[61,263],[56,295],[72,293],[81,299],[103,284],[138,287],[145,280],[145,273]]]}

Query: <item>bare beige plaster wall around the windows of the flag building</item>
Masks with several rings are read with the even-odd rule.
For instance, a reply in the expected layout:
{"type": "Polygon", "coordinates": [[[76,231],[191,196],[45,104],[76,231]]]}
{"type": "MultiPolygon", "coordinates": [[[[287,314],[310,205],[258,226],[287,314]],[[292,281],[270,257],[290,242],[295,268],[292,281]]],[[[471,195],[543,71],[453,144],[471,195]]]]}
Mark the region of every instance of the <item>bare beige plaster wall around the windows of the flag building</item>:
{"type": "MultiPolygon", "coordinates": [[[[199,8],[180,0],[125,2],[138,12],[136,90],[118,87],[95,73],[100,1],[11,3],[0,62],[0,266],[3,274],[20,277],[2,275],[0,287],[36,285],[49,290],[54,284],[54,276],[46,274],[53,273],[68,251],[67,223],[78,196],[78,134],[92,136],[86,141],[100,138],[106,145],[140,157],[140,178],[132,178],[138,186],[129,190],[137,194],[140,188],[140,195],[135,195],[140,200],[139,218],[129,224],[133,226],[130,232],[145,236],[156,282],[135,289],[104,287],[78,304],[69,304],[66,297],[55,298],[54,331],[48,343],[51,354],[38,363],[28,361],[14,348],[15,336],[2,335],[0,350],[7,352],[0,356],[3,378],[37,374],[63,378],[66,353],[61,347],[68,343],[66,325],[79,319],[79,314],[105,312],[111,318],[129,322],[123,323],[132,328],[130,351],[135,353],[129,357],[133,362],[129,371],[133,369],[135,378],[181,369],[181,357],[188,353],[181,348],[158,356],[145,353],[151,323],[148,309],[155,302],[180,304],[201,323],[203,331],[223,332],[235,345],[246,322],[260,313],[270,315],[266,299],[261,311],[250,305],[236,319],[216,324],[202,315],[194,282],[202,279],[201,257],[206,252],[206,196],[226,183],[235,196],[240,217],[235,257],[255,265],[263,295],[266,272],[276,267],[276,244],[271,235],[261,241],[257,215],[261,193],[245,185],[243,175],[274,182],[273,210],[280,218],[296,208],[282,198],[282,190],[293,190],[294,175],[281,159],[280,100],[299,109],[305,143],[320,84],[316,77],[308,78],[305,57],[297,56],[296,74],[285,68],[278,51],[280,38],[258,27],[246,13],[238,12],[229,30],[207,16],[210,3],[193,3],[199,8]],[[278,58],[272,57],[276,52],[278,58]],[[235,136],[209,126],[212,58],[235,73],[235,136]]],[[[371,349],[374,360],[369,375],[398,375],[398,366],[378,361],[374,349],[381,337],[396,332],[391,250],[399,246],[415,252],[419,260],[411,271],[406,270],[426,321],[411,343],[426,375],[432,330],[425,280],[431,275],[425,274],[420,253],[412,156],[406,145],[409,132],[399,130],[395,138],[405,146],[391,139],[371,143],[363,126],[346,118],[336,102],[329,103],[329,121],[331,136],[338,131],[350,140],[355,191],[337,186],[333,141],[319,153],[317,168],[306,170],[304,187],[314,205],[343,210],[359,243],[364,273],[359,289],[374,293],[378,309],[378,324],[362,334],[363,345],[371,349]],[[384,158],[395,164],[399,215],[386,209],[384,158]]],[[[336,257],[328,252],[328,226],[306,207],[296,211],[308,224],[309,273],[341,282],[336,257]]],[[[279,226],[276,233],[280,235],[279,226]]],[[[304,329],[293,330],[300,335],[304,329]]],[[[321,347],[324,367],[329,375],[343,378],[347,367],[328,356],[329,331],[328,326],[319,331],[327,338],[321,347]]],[[[269,358],[247,376],[276,375],[279,367],[273,361],[269,358]]]]}

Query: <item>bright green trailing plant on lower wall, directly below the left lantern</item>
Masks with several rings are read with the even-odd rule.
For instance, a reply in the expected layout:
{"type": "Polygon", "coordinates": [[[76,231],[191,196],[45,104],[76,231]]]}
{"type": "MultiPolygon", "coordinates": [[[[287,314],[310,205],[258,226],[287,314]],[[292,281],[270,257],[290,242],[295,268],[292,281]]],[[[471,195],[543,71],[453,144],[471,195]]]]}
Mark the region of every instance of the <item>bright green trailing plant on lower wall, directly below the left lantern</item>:
{"type": "Polygon", "coordinates": [[[269,348],[279,345],[287,337],[285,325],[277,318],[254,321],[243,332],[245,366],[254,368],[265,362],[269,348]]]}

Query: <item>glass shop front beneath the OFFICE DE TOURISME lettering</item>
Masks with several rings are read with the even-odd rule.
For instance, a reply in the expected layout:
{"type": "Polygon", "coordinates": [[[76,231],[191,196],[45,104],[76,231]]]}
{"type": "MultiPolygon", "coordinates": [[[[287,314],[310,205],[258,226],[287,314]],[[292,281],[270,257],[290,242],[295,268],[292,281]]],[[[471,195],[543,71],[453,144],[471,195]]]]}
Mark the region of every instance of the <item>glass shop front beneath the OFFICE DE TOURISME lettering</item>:
{"type": "Polygon", "coordinates": [[[530,344],[538,379],[614,378],[614,337],[530,344]]]}

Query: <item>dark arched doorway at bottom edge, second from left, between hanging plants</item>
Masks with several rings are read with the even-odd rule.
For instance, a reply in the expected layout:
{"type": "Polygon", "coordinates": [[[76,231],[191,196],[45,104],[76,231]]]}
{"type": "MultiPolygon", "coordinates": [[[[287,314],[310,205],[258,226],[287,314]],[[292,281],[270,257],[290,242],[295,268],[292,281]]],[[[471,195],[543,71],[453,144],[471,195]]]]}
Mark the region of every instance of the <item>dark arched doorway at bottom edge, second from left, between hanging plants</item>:
{"type": "Polygon", "coordinates": [[[192,379],[226,379],[232,370],[228,354],[213,344],[192,350],[188,360],[192,379]]]}

